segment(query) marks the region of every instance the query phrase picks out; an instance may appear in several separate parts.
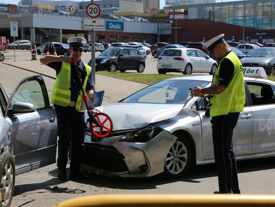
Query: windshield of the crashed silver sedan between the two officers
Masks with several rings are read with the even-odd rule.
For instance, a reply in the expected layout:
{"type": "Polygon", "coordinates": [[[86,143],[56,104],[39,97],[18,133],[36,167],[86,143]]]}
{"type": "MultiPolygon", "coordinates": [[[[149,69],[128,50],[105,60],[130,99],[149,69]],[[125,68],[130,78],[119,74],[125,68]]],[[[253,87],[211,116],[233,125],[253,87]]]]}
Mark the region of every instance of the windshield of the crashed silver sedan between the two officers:
{"type": "Polygon", "coordinates": [[[157,82],[123,99],[122,103],[185,104],[192,96],[189,88],[205,87],[209,81],[168,79],[157,82]]]}

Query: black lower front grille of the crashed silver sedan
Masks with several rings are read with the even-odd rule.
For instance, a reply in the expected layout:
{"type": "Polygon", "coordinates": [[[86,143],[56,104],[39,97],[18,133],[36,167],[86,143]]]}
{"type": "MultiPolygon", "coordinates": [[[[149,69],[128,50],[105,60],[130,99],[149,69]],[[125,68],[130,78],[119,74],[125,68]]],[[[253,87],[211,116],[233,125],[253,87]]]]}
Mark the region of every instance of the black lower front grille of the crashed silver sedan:
{"type": "Polygon", "coordinates": [[[82,149],[82,160],[85,165],[112,172],[128,171],[124,156],[112,146],[87,144],[82,149]]]}

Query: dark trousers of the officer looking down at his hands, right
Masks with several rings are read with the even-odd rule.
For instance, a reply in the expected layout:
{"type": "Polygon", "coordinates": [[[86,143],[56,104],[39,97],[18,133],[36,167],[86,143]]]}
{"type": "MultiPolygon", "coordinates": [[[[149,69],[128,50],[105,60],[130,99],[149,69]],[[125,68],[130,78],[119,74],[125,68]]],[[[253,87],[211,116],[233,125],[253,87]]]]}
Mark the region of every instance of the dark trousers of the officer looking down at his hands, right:
{"type": "Polygon", "coordinates": [[[211,119],[220,193],[239,191],[237,164],[232,144],[233,130],[236,127],[239,114],[239,112],[228,113],[227,115],[213,116],[211,119]]]}

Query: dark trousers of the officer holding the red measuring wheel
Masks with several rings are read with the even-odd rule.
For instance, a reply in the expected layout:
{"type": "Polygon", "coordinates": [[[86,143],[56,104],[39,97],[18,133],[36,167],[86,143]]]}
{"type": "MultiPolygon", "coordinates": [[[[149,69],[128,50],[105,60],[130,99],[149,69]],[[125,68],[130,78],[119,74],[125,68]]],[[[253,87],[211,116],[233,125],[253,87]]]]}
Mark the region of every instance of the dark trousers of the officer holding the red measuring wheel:
{"type": "Polygon", "coordinates": [[[85,137],[84,112],[78,112],[72,106],[55,105],[54,108],[58,118],[58,168],[61,170],[66,169],[68,149],[71,141],[70,170],[72,173],[76,173],[81,165],[82,143],[85,137]]]}

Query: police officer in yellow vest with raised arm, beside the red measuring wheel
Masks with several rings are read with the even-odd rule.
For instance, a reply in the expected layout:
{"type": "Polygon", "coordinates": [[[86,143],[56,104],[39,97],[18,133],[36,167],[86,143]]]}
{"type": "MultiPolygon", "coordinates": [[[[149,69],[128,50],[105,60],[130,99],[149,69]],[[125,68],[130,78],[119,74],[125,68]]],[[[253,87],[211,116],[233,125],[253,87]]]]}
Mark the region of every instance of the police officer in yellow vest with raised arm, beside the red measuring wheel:
{"type": "MultiPolygon", "coordinates": [[[[71,142],[70,179],[85,180],[85,175],[79,172],[82,143],[85,136],[85,108],[81,107],[81,87],[87,94],[94,93],[95,86],[91,67],[81,61],[86,40],[81,37],[68,39],[69,53],[75,58],[77,70],[69,56],[45,55],[40,62],[56,70],[50,102],[58,117],[58,178],[67,179],[66,166],[68,149],[71,142]]],[[[85,105],[84,105],[85,106],[85,105]]]]}

